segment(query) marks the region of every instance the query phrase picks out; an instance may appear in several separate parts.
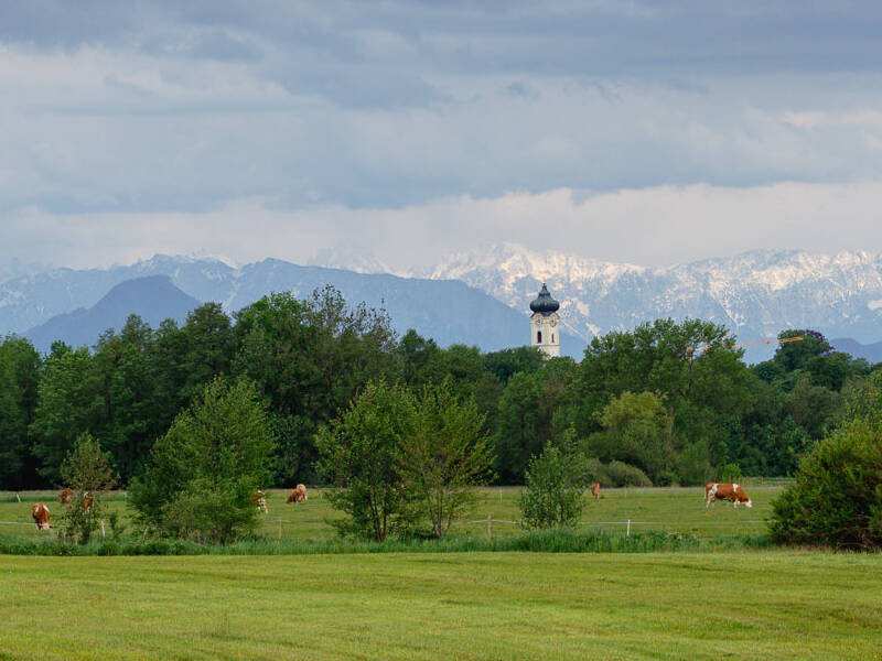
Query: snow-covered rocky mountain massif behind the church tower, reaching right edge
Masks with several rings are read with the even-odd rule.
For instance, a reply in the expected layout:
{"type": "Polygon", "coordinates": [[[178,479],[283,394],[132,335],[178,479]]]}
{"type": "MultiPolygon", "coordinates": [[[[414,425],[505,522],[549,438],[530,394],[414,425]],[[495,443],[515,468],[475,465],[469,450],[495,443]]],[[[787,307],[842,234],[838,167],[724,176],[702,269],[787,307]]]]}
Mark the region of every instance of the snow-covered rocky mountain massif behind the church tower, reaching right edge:
{"type": "Polygon", "coordinates": [[[507,243],[454,256],[431,278],[462,280],[512,306],[547,282],[566,327],[585,340],[659,317],[724,324],[744,342],[795,327],[882,338],[882,257],[863,251],[756,250],[650,269],[507,243]]]}

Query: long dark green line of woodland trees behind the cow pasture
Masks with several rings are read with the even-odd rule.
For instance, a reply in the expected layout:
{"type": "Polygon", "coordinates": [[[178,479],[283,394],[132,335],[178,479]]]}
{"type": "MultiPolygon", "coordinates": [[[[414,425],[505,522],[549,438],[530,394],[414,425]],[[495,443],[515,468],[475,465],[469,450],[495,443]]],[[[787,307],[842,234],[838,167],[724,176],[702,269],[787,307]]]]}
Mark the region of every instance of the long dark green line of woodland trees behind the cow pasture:
{"type": "Polygon", "coordinates": [[[207,303],[180,326],[130,316],[93,347],[56,342],[45,356],[8,336],[0,489],[61,485],[83,434],[107,453],[119,484],[147,484],[158,440],[182,434],[174,421],[216,381],[247,382],[266,408],[273,449],[260,486],[333,483],[329,448],[342,443],[353,402],[378,384],[401,395],[411,425],[432,420],[431,398],[473,407],[491,467],[483,479],[498,484],[524,484],[547,446],[576,453],[587,479],[611,486],[787,475],[880,368],[815,332],[781,337],[796,335],[804,339],[751,367],[725,348],[735,339],[723,326],[657,319],[592,339],[580,362],[545,360],[529,347],[482,353],[413,330],[397,337],[384,311],[347,305],[329,286],[304,300],[273,293],[233,315],[207,303]]]}

